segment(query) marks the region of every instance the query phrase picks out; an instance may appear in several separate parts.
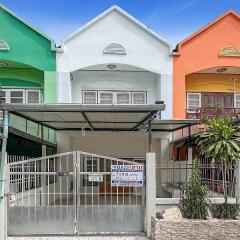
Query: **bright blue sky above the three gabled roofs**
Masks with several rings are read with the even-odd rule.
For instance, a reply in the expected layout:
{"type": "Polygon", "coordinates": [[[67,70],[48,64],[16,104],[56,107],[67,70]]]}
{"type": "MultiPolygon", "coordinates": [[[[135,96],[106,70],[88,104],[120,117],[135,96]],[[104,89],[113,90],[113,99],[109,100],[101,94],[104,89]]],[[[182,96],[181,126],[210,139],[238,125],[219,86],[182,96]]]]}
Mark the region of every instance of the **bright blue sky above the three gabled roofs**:
{"type": "Polygon", "coordinates": [[[240,0],[0,0],[57,45],[112,5],[137,18],[173,47],[229,9],[240,13],[240,0]]]}

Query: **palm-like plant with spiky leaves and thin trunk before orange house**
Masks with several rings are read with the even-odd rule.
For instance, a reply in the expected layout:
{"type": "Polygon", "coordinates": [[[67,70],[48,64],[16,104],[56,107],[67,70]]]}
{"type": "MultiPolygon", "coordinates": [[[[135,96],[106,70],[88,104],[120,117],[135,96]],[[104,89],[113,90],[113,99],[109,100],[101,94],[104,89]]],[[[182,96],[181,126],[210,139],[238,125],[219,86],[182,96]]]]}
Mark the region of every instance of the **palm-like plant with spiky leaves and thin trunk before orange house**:
{"type": "Polygon", "coordinates": [[[229,117],[211,119],[206,130],[197,135],[196,143],[200,157],[211,157],[215,164],[221,166],[227,204],[226,169],[240,160],[240,128],[232,124],[229,117]]]}

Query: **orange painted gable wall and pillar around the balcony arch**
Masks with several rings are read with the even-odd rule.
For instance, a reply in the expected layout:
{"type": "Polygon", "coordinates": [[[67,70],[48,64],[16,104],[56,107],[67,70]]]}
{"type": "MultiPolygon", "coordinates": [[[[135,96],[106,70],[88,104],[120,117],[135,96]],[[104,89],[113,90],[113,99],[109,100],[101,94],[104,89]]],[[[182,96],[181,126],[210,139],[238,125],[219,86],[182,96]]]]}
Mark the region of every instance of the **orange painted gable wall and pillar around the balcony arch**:
{"type": "Polygon", "coordinates": [[[229,12],[202,32],[179,44],[173,57],[173,117],[185,118],[185,76],[218,66],[240,67],[239,57],[220,57],[226,46],[240,50],[240,17],[229,12]]]}

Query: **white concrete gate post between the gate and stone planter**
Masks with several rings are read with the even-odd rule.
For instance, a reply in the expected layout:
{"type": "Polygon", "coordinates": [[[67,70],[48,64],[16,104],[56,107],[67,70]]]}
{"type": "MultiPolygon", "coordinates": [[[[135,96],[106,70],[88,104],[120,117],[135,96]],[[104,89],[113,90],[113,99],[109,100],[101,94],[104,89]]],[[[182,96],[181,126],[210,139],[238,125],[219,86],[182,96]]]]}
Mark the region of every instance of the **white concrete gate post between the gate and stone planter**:
{"type": "Polygon", "coordinates": [[[156,154],[154,152],[146,153],[146,219],[145,231],[150,237],[151,217],[156,210],[156,154]]]}

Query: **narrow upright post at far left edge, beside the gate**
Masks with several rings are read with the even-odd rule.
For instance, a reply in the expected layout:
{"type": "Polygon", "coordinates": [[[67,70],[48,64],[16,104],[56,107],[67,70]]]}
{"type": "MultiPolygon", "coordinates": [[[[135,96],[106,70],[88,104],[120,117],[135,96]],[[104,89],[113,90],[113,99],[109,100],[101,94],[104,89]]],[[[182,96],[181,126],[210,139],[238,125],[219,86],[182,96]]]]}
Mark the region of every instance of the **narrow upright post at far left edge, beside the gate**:
{"type": "Polygon", "coordinates": [[[7,196],[5,195],[6,149],[8,138],[8,112],[3,111],[3,136],[0,154],[0,240],[7,239],[7,196]]]}

